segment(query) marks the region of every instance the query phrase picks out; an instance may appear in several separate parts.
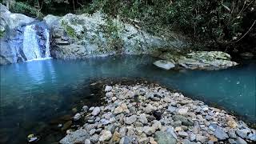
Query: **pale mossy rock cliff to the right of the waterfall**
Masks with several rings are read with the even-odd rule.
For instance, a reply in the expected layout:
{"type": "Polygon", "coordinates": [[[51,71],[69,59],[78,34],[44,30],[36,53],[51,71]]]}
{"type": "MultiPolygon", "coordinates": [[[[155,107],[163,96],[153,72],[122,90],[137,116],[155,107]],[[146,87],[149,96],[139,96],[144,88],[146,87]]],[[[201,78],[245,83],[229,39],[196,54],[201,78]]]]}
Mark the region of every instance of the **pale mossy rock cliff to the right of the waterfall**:
{"type": "Polygon", "coordinates": [[[110,54],[154,54],[159,48],[182,48],[181,36],[160,38],[138,27],[111,19],[105,14],[47,15],[44,21],[52,32],[51,55],[76,59],[110,54]]]}

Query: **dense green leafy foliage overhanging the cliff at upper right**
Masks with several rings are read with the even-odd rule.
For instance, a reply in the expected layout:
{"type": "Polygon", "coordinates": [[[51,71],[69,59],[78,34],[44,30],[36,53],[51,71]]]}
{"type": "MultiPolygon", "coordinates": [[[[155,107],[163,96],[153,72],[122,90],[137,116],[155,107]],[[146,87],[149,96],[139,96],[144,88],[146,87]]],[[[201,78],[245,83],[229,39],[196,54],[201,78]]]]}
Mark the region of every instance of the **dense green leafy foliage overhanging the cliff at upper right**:
{"type": "Polygon", "coordinates": [[[97,10],[116,17],[139,20],[153,34],[182,30],[198,42],[228,45],[246,33],[253,23],[255,0],[94,0],[80,13],[97,10]],[[250,20],[250,25],[245,24],[250,20]]]}

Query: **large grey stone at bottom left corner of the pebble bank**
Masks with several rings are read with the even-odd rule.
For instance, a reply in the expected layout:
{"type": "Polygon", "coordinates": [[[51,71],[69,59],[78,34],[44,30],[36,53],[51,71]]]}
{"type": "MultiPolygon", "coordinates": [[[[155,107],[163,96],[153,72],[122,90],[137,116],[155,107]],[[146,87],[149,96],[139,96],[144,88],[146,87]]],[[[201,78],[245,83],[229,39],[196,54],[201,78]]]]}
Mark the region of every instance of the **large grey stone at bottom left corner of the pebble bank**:
{"type": "Polygon", "coordinates": [[[80,129],[75,130],[74,132],[70,132],[66,137],[62,138],[60,143],[62,144],[70,144],[70,143],[84,143],[86,139],[90,138],[90,134],[87,133],[86,130],[80,129]]]}

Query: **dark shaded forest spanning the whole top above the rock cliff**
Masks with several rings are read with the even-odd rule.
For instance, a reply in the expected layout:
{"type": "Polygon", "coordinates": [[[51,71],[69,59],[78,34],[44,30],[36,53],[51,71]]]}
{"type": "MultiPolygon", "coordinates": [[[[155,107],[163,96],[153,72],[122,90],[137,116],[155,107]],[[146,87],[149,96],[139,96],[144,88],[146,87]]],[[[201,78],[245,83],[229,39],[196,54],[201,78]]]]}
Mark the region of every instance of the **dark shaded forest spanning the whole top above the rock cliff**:
{"type": "Polygon", "coordinates": [[[10,10],[34,18],[46,14],[92,14],[98,10],[151,34],[180,31],[194,49],[256,53],[255,0],[3,0],[10,10]]]}

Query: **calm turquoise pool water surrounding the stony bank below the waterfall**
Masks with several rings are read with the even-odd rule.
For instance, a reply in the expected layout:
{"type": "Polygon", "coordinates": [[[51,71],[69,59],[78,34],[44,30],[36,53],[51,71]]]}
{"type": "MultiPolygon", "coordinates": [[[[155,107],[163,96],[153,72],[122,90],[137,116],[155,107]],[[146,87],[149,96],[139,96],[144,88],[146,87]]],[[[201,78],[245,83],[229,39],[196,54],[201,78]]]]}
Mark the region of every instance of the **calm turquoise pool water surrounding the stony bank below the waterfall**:
{"type": "MultiPolygon", "coordinates": [[[[227,70],[166,71],[153,66],[154,60],[149,56],[121,56],[0,66],[0,139],[24,143],[28,134],[45,130],[52,118],[71,114],[77,104],[94,103],[97,98],[91,95],[90,86],[94,78],[147,78],[256,122],[256,61],[227,70]]],[[[62,135],[46,137],[53,142],[62,135]]]]}

